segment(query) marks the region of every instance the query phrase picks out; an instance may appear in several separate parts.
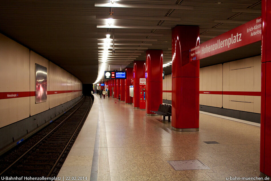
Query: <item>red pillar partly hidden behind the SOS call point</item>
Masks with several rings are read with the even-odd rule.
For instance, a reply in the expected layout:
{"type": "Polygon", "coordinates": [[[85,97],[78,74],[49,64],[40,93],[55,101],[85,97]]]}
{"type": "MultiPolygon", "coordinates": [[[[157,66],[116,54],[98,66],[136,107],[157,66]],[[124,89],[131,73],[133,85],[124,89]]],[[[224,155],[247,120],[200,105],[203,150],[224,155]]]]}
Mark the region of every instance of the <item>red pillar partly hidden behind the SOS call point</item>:
{"type": "Polygon", "coordinates": [[[139,109],[139,79],[145,78],[145,61],[134,61],[134,108],[139,109]]]}

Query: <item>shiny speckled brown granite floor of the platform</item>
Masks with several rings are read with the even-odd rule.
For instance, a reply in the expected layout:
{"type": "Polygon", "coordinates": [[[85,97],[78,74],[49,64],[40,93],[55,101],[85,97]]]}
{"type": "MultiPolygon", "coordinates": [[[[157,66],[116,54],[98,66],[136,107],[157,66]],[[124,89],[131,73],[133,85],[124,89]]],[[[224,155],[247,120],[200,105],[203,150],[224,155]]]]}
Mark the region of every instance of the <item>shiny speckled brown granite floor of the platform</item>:
{"type": "MultiPolygon", "coordinates": [[[[226,180],[259,175],[259,127],[200,114],[198,132],[177,132],[171,123],[160,122],[161,116],[146,116],[124,102],[105,100],[97,106],[104,111],[111,180],[226,180]],[[200,160],[211,169],[177,171],[169,160],[200,160]]],[[[90,146],[81,139],[76,145],[91,155],[90,146]]],[[[67,163],[91,165],[91,160],[79,157],[67,163]]]]}

